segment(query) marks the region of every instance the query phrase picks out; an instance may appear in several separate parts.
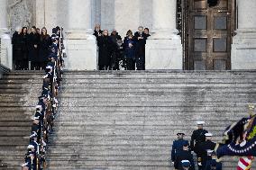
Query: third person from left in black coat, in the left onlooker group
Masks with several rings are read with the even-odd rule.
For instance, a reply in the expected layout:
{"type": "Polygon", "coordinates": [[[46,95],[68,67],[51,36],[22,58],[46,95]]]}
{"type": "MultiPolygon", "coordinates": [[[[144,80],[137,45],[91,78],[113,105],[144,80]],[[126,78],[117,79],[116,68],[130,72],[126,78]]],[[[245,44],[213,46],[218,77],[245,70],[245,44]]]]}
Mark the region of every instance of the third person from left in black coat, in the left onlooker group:
{"type": "Polygon", "coordinates": [[[40,69],[39,43],[40,35],[36,31],[36,27],[33,26],[28,38],[29,61],[31,61],[31,68],[33,70],[40,69]]]}

